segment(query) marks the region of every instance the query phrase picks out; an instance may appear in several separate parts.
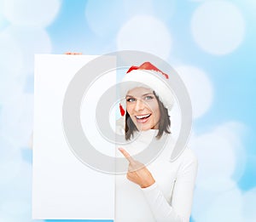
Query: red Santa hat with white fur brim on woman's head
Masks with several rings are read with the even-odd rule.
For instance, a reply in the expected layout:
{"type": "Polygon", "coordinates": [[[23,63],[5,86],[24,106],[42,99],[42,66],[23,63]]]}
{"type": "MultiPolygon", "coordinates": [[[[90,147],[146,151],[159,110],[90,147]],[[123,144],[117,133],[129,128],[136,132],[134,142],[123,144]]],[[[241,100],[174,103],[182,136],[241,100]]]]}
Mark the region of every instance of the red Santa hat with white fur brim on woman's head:
{"type": "MultiPolygon", "coordinates": [[[[125,84],[121,87],[121,96],[125,98],[125,95],[131,88],[151,88],[163,105],[165,105],[166,109],[171,110],[174,97],[171,88],[166,83],[168,78],[169,76],[166,73],[160,71],[150,62],[144,62],[140,66],[131,66],[122,80],[122,83],[125,84]]],[[[121,101],[119,109],[121,116],[125,116],[125,100],[121,101]]]]}

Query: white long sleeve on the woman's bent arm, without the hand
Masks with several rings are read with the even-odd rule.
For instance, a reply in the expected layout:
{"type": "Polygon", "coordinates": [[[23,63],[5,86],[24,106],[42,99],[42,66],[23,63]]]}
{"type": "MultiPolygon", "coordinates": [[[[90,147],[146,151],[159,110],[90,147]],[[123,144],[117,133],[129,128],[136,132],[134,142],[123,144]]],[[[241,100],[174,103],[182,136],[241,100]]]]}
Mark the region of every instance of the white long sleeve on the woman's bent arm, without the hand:
{"type": "MultiPolygon", "coordinates": [[[[157,182],[142,189],[143,194],[157,222],[189,222],[197,173],[196,157],[192,151],[186,151],[170,166],[177,168],[173,190],[170,188],[171,202],[167,202],[157,182]]],[[[164,172],[160,176],[165,177],[164,172]]]]}

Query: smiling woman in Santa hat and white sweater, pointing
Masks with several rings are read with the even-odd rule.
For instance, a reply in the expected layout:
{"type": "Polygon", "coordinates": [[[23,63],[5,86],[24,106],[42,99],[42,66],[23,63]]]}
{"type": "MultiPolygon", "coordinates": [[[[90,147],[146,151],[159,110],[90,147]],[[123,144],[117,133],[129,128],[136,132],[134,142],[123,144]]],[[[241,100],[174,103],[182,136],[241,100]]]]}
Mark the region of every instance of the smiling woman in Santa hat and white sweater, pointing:
{"type": "Polygon", "coordinates": [[[197,160],[187,148],[175,162],[170,162],[173,140],[168,111],[174,100],[166,78],[166,73],[145,62],[131,66],[123,79],[131,84],[122,88],[125,103],[120,105],[120,111],[125,118],[124,122],[119,121],[117,130],[125,129],[129,144],[119,151],[129,166],[126,175],[116,177],[115,222],[189,221],[197,160]],[[160,156],[147,166],[132,157],[146,151],[152,139],[160,144],[166,138],[168,142],[160,156]]]}

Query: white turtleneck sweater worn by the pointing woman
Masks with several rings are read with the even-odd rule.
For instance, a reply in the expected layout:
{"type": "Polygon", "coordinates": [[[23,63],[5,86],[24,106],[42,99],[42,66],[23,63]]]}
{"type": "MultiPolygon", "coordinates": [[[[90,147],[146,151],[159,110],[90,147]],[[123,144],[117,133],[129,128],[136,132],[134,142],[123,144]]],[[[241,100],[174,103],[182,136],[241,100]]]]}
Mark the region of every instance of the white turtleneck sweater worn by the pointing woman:
{"type": "MultiPolygon", "coordinates": [[[[134,142],[123,148],[131,156],[143,151],[155,139],[155,131],[140,132],[134,142]]],[[[142,189],[126,179],[125,174],[116,176],[115,222],[189,222],[197,159],[186,148],[176,161],[170,162],[174,143],[170,134],[166,136],[169,140],[164,150],[147,165],[155,179],[154,185],[142,189]]],[[[122,157],[119,151],[117,157],[122,157]]]]}

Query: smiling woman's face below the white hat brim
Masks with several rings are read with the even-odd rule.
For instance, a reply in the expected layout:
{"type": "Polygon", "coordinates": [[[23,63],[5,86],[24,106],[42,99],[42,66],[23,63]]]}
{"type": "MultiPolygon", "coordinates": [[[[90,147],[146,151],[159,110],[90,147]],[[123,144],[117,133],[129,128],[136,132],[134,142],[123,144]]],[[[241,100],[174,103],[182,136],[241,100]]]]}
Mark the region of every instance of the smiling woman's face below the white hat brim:
{"type": "Polygon", "coordinates": [[[152,89],[137,87],[126,94],[126,110],[138,130],[158,128],[160,108],[152,89]]]}

